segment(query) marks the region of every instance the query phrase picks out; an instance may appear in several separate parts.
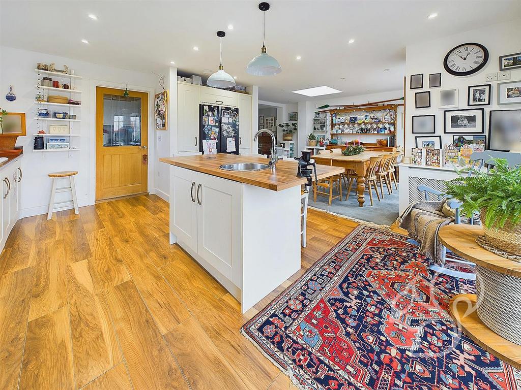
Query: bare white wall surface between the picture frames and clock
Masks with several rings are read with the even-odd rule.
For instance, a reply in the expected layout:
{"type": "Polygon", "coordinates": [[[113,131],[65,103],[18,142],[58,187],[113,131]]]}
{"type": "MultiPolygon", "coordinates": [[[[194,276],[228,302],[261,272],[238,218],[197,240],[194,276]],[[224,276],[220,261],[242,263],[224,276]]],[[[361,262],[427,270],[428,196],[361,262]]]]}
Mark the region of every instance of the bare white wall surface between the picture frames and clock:
{"type": "MultiPolygon", "coordinates": [[[[443,110],[439,109],[440,99],[439,90],[458,88],[460,109],[467,108],[467,91],[468,86],[479,84],[492,84],[491,105],[477,106],[471,108],[485,108],[485,134],[488,137],[488,113],[490,110],[506,110],[521,107],[521,105],[501,105],[498,106],[497,84],[498,82],[486,82],[487,73],[499,71],[499,56],[518,53],[521,49],[521,37],[519,35],[518,26],[521,19],[513,20],[508,23],[490,25],[485,28],[467,31],[464,33],[446,36],[437,40],[422,42],[406,47],[405,71],[407,78],[406,89],[406,145],[405,152],[411,155],[411,148],[415,146],[415,136],[421,134],[412,134],[412,116],[413,115],[436,115],[436,134],[442,137],[442,147],[452,142],[452,134],[443,134],[443,110]],[[443,69],[443,59],[445,55],[453,47],[466,43],[477,42],[489,50],[489,60],[487,65],[479,72],[470,76],[453,76],[443,69]],[[429,74],[441,72],[441,88],[429,89],[429,74]],[[411,74],[424,74],[424,88],[410,89],[411,74]],[[416,92],[430,90],[431,107],[424,109],[416,109],[414,102],[414,94],[416,92]]],[[[513,69],[510,81],[521,80],[521,69],[513,69]]],[[[503,80],[508,81],[508,80],[503,80]]],[[[503,82],[500,81],[500,82],[503,82]]],[[[454,110],[451,108],[450,110],[454,110]]]]}

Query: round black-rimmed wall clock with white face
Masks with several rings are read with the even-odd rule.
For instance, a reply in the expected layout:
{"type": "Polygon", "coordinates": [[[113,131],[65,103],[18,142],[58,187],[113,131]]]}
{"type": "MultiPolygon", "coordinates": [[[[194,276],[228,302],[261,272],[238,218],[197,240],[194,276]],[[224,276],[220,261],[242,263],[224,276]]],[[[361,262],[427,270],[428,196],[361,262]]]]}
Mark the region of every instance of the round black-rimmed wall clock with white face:
{"type": "Polygon", "coordinates": [[[443,60],[443,68],[455,76],[468,76],[481,70],[488,62],[489,54],[479,43],[464,43],[451,49],[443,60]]]}

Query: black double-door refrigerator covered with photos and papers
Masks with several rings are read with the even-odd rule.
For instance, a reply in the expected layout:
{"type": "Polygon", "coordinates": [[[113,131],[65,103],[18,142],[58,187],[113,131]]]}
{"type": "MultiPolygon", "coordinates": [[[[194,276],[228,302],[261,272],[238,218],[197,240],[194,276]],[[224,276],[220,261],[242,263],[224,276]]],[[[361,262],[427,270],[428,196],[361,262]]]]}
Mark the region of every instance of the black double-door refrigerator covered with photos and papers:
{"type": "Polygon", "coordinates": [[[199,151],[203,154],[239,154],[239,109],[199,106],[199,151]]]}

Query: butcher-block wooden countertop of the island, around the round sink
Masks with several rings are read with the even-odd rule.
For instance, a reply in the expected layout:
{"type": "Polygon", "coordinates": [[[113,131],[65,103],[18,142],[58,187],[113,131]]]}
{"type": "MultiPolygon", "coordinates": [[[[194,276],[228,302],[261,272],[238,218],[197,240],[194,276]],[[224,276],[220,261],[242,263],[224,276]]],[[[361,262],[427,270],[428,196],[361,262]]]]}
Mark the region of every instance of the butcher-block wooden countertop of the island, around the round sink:
{"type": "MultiPolygon", "coordinates": [[[[267,188],[273,191],[281,191],[290,187],[301,186],[307,183],[307,179],[296,177],[297,162],[279,160],[275,172],[271,169],[253,172],[225,171],[219,168],[222,164],[238,162],[268,163],[268,159],[237,154],[205,154],[185,157],[164,157],[159,161],[187,168],[192,171],[206,173],[208,175],[222,177],[224,179],[239,181],[252,186],[267,188]]],[[[317,164],[317,177],[338,175],[344,172],[344,168],[337,166],[326,166],[317,164]]],[[[315,178],[315,176],[313,176],[315,178]]]]}

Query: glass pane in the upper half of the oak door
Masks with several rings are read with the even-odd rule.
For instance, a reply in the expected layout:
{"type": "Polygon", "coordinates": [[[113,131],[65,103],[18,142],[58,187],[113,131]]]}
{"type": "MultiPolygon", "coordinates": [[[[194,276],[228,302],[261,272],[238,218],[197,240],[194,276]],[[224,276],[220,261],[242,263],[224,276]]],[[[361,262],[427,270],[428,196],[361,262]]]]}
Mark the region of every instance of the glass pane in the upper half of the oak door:
{"type": "Polygon", "coordinates": [[[141,98],[103,95],[103,146],[141,145],[141,98]]]}

